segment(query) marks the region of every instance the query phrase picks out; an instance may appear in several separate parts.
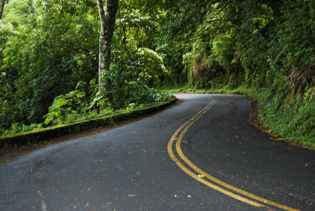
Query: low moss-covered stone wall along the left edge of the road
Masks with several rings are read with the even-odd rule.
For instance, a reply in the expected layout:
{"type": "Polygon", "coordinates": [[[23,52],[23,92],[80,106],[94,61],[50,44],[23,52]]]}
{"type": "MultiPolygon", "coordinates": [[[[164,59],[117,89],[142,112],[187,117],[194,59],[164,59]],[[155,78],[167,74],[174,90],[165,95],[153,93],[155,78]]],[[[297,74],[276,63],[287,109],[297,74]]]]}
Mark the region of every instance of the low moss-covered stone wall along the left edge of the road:
{"type": "Polygon", "coordinates": [[[172,96],[170,100],[157,103],[152,106],[144,107],[133,111],[125,111],[118,114],[113,114],[105,117],[98,117],[95,119],[84,120],[66,125],[58,125],[49,128],[43,128],[26,133],[12,134],[0,137],[0,151],[11,148],[20,147],[28,144],[36,144],[38,141],[49,140],[64,136],[66,134],[75,134],[92,128],[105,126],[119,121],[139,117],[141,115],[149,114],[161,110],[173,103],[176,97],[172,96]]]}

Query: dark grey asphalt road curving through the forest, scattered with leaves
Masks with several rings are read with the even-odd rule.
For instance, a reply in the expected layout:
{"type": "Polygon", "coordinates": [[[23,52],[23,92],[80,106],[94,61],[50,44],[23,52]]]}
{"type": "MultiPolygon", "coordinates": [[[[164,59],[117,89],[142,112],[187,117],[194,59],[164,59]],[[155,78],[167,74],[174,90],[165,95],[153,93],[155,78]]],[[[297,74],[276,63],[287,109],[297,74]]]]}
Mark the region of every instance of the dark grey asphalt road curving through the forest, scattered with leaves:
{"type": "Polygon", "coordinates": [[[244,97],[176,97],[0,165],[0,210],[315,210],[315,151],[251,125],[244,97]]]}

